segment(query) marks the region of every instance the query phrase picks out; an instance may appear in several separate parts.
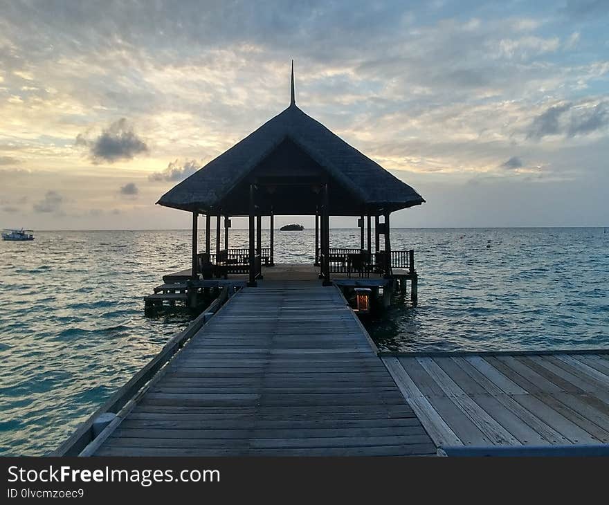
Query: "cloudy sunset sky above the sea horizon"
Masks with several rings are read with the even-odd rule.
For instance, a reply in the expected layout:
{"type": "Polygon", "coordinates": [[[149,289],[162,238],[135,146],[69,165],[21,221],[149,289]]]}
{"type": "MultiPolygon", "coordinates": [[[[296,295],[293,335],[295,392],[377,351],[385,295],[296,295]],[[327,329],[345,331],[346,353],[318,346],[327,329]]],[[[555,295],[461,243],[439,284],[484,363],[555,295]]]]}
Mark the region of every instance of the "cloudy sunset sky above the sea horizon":
{"type": "Polygon", "coordinates": [[[0,0],[0,227],[188,228],[155,202],[288,106],[291,59],[298,106],[426,199],[392,226],[609,226],[608,24],[609,0],[0,0]]]}

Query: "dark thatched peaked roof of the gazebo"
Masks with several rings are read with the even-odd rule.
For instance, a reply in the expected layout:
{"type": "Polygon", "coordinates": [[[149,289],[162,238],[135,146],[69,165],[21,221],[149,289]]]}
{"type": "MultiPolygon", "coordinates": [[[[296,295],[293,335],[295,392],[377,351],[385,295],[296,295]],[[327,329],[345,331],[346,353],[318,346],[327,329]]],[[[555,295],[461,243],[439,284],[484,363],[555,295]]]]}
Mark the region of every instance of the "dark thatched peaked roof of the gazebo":
{"type": "MultiPolygon", "coordinates": [[[[284,152],[279,167],[282,174],[298,176],[299,163],[293,161],[309,158],[309,165],[316,165],[329,177],[331,195],[337,195],[335,188],[340,186],[343,201],[336,213],[357,215],[363,209],[392,212],[424,203],[412,187],[296,107],[293,94],[287,109],[173,187],[157,203],[189,211],[217,212],[221,208],[230,215],[247,214],[245,194],[235,198],[239,185],[249,184],[257,167],[280,150],[284,152]]],[[[296,208],[296,200],[293,202],[293,210],[284,205],[277,213],[307,213],[305,208],[296,208]]]]}

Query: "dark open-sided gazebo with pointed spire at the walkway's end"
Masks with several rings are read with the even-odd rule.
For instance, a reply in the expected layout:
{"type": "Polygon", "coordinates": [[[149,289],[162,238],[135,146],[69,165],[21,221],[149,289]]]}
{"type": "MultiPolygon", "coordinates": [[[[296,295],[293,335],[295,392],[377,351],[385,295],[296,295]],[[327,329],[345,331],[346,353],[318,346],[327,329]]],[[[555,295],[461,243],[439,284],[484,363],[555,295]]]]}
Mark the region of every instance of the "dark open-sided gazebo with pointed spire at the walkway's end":
{"type": "Polygon", "coordinates": [[[354,268],[388,276],[392,257],[390,214],[424,201],[408,184],[296,106],[292,62],[289,107],[172,187],[157,203],[192,212],[192,277],[205,273],[206,265],[224,266],[224,275],[248,273],[248,286],[256,286],[262,275],[263,216],[269,216],[271,221],[271,247],[264,255],[269,266],[274,264],[273,217],[279,214],[316,217],[315,264],[320,266],[323,284],[329,285],[332,265],[342,265],[346,257],[340,252],[332,254],[329,247],[330,216],[360,218],[361,261],[356,261],[354,268]],[[206,252],[201,254],[197,249],[199,214],[206,216],[206,252]],[[210,226],[214,216],[216,252],[212,254],[210,226]],[[224,249],[221,249],[223,216],[224,249]],[[230,217],[245,216],[249,218],[249,248],[231,252],[228,249],[230,217]],[[367,248],[364,246],[366,226],[367,248]],[[383,249],[380,235],[384,236],[383,249]]]}

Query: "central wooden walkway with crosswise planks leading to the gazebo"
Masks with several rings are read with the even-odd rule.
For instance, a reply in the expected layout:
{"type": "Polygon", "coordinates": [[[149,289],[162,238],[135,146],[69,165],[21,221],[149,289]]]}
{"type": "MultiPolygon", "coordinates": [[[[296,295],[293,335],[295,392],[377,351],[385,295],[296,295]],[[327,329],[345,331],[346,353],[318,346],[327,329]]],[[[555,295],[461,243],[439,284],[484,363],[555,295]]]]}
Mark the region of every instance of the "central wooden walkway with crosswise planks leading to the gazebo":
{"type": "MultiPolygon", "coordinates": [[[[269,276],[270,277],[270,276],[269,276]]],[[[95,455],[434,455],[338,288],[244,288],[95,455]]]]}

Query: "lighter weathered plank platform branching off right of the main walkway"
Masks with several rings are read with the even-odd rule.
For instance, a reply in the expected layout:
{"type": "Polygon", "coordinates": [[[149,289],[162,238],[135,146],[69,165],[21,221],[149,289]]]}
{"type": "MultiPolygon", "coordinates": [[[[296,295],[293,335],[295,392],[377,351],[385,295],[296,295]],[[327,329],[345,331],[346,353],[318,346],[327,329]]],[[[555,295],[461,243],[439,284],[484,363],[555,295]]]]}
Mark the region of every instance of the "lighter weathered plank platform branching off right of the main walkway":
{"type": "Polygon", "coordinates": [[[383,362],[437,447],[609,443],[604,355],[409,353],[383,362]]]}

